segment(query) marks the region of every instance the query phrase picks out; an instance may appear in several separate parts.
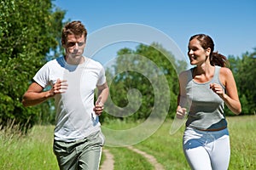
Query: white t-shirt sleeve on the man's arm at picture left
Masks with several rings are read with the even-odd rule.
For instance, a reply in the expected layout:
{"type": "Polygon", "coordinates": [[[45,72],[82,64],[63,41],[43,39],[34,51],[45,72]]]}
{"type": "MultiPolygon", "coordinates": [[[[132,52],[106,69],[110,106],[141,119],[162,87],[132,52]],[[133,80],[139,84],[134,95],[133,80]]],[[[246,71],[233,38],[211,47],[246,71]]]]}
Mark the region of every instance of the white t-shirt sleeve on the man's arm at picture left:
{"type": "Polygon", "coordinates": [[[33,80],[45,88],[49,85],[49,66],[44,65],[33,77],[33,80]]]}

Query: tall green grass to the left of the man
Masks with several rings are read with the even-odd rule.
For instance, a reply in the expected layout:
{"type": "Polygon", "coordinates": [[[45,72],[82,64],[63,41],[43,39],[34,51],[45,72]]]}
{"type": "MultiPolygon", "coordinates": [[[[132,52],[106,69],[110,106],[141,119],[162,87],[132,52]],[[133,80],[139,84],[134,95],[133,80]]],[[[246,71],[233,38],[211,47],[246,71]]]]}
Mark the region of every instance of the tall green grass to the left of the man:
{"type": "Polygon", "coordinates": [[[0,169],[58,169],[52,151],[53,126],[35,126],[28,134],[19,127],[0,132],[0,169]]]}

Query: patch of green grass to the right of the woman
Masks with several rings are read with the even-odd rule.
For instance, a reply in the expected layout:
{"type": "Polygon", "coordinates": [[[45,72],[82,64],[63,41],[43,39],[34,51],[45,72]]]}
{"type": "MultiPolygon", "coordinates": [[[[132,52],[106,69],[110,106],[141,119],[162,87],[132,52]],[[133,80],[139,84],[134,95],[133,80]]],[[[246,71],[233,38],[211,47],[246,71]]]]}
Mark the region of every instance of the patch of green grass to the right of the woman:
{"type": "Polygon", "coordinates": [[[256,169],[256,116],[236,116],[230,122],[230,169],[256,169]]]}

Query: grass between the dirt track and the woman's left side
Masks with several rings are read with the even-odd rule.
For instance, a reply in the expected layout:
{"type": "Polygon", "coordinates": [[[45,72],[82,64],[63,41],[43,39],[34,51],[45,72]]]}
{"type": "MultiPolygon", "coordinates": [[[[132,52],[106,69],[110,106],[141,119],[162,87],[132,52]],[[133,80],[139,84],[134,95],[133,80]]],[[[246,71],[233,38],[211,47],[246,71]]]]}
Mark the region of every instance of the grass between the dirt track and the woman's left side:
{"type": "Polygon", "coordinates": [[[182,150],[183,127],[170,135],[171,124],[165,122],[150,138],[134,147],[153,155],[168,170],[190,169],[182,150]]]}

